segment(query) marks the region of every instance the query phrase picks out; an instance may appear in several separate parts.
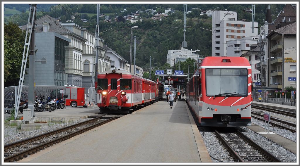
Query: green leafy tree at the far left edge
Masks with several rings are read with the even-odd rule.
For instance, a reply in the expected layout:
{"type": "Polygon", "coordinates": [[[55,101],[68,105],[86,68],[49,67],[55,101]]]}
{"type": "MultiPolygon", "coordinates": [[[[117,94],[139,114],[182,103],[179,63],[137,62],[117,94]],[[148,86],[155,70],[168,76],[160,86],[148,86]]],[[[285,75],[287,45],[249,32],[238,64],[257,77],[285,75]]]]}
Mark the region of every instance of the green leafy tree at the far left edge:
{"type": "Polygon", "coordinates": [[[18,25],[4,24],[4,87],[19,83],[25,36],[18,25]]]}

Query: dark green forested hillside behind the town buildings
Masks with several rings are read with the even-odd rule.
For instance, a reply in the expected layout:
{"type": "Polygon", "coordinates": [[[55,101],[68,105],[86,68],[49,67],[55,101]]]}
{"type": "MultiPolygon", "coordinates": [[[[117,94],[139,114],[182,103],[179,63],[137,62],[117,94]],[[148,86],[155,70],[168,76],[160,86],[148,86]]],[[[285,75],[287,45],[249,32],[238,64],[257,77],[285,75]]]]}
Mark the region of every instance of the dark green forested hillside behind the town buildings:
{"type": "MultiPolygon", "coordinates": [[[[271,13],[276,18],[278,12],[283,8],[284,4],[271,4],[271,13]]],[[[6,5],[4,4],[4,7],[6,5]]],[[[15,6],[10,6],[10,8],[15,6]]],[[[48,7],[48,6],[47,6],[48,7]]],[[[117,16],[126,16],[129,13],[135,13],[137,10],[145,11],[147,9],[155,9],[157,12],[164,13],[167,8],[172,8],[175,13],[170,17],[164,17],[161,21],[153,21],[152,15],[140,13],[143,21],[137,21],[134,24],[129,22],[104,22],[105,17],[101,17],[100,32],[108,47],[117,51],[129,61],[130,50],[130,28],[138,26],[133,30],[133,36],[137,36],[136,63],[138,66],[148,67],[149,59],[145,57],[153,57],[152,66],[161,66],[166,62],[167,51],[170,49],[180,49],[183,41],[183,4],[103,4],[100,13],[110,16],[111,20],[117,16]],[[126,9],[125,12],[123,9],[126,9]],[[108,30],[108,31],[107,31],[108,30]]],[[[265,21],[265,13],[268,4],[256,4],[255,21],[258,25],[262,25],[265,21]]],[[[246,8],[251,8],[251,4],[187,4],[187,10],[191,8],[199,8],[201,10],[208,9],[228,9],[238,13],[238,20],[247,19],[251,21],[251,13],[244,12],[246,8]]],[[[38,6],[37,19],[45,14],[54,18],[60,18],[61,22],[66,22],[71,15],[78,15],[81,19],[87,19],[88,22],[82,22],[79,19],[74,21],[82,28],[87,28],[92,33],[95,32],[96,26],[96,4],[61,4],[54,5],[49,11],[42,10],[38,6]]],[[[185,38],[187,41],[187,49],[197,51],[203,56],[211,55],[211,18],[200,16],[199,10],[191,10],[192,13],[187,14],[187,26],[185,38]],[[203,29],[204,28],[204,29],[203,29]],[[205,30],[208,29],[208,30],[205,30]]],[[[5,15],[5,11],[4,11],[5,15]]],[[[121,17],[122,18],[122,17],[121,17]]],[[[18,25],[27,24],[28,13],[15,14],[4,17],[4,22],[13,22],[18,25]]]]}

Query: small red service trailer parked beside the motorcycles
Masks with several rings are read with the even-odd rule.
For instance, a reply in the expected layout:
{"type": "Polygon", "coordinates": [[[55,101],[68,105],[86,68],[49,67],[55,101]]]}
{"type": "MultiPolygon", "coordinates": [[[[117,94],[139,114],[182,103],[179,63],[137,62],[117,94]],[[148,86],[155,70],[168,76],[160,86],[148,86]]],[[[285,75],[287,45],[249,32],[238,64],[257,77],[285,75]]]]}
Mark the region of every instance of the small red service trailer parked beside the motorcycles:
{"type": "Polygon", "coordinates": [[[84,106],[84,88],[79,87],[66,87],[65,95],[68,95],[66,98],[66,106],[84,106]]]}

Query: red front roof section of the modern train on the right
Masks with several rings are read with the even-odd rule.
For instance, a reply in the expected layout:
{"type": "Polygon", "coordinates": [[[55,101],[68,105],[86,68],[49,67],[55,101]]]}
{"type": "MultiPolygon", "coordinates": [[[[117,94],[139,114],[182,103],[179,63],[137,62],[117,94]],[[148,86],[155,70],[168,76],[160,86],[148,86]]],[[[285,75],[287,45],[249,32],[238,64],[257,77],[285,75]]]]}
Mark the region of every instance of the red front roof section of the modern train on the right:
{"type": "Polygon", "coordinates": [[[205,57],[200,66],[250,66],[249,61],[245,57],[205,57]],[[223,59],[229,59],[230,62],[223,62],[223,59]]]}

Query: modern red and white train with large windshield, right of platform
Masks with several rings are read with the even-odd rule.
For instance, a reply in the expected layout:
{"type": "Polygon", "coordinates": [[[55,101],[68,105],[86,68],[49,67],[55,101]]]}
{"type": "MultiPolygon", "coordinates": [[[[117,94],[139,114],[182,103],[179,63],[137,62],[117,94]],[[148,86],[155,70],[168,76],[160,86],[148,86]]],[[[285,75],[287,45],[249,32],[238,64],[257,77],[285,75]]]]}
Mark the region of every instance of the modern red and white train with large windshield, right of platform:
{"type": "Polygon", "coordinates": [[[205,57],[187,83],[202,126],[251,126],[251,66],[245,57],[205,57]]]}

